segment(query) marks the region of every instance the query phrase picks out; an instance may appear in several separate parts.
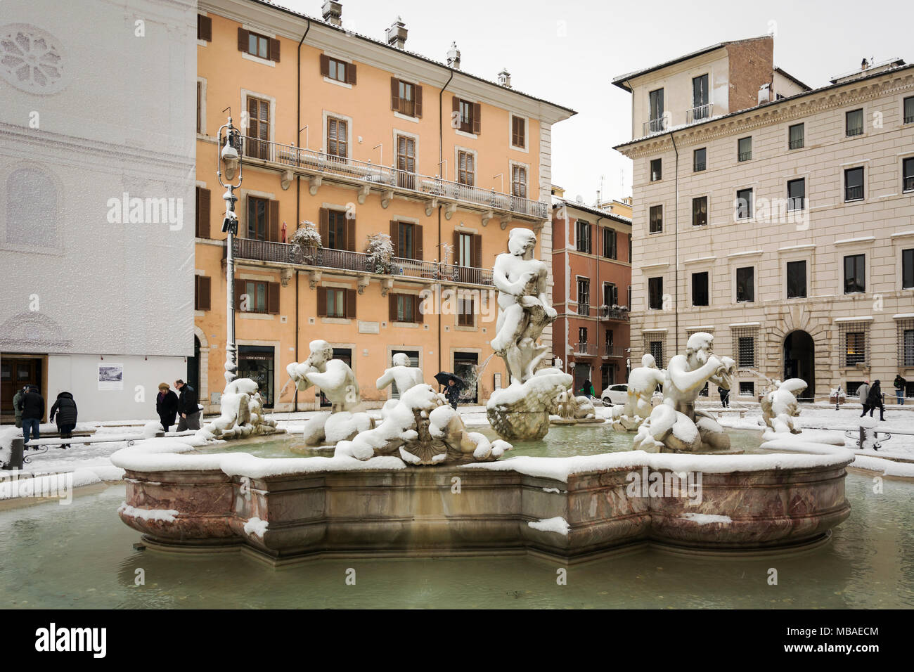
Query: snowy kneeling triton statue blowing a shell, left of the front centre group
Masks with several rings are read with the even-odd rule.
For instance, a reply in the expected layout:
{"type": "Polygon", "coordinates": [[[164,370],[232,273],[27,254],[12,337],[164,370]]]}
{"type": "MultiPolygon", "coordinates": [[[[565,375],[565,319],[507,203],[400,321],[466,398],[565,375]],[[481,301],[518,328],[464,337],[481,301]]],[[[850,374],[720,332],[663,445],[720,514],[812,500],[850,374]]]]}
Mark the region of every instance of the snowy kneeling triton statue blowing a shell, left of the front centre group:
{"type": "Polygon", "coordinates": [[[315,387],[324,392],[331,406],[329,413],[320,413],[304,423],[305,443],[336,443],[372,427],[374,423],[367,413],[355,412],[361,396],[352,368],[342,359],[334,359],[334,348],[324,340],[314,340],[308,347],[310,357],[301,363],[292,362],[286,372],[299,390],[315,387]]]}

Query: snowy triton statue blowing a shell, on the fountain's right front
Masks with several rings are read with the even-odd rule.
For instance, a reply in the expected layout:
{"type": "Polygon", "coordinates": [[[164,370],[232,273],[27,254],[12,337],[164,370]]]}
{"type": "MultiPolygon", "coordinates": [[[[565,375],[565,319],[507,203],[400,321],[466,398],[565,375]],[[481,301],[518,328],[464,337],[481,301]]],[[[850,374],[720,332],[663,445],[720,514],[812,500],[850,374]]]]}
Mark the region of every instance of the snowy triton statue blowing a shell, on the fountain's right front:
{"type": "Polygon", "coordinates": [[[635,450],[665,453],[727,451],[730,439],[707,413],[695,410],[695,400],[705,383],[730,389],[736,362],[714,354],[714,336],[698,332],[689,336],[685,355],[670,359],[664,376],[664,402],[651,411],[634,437],[635,450]]]}

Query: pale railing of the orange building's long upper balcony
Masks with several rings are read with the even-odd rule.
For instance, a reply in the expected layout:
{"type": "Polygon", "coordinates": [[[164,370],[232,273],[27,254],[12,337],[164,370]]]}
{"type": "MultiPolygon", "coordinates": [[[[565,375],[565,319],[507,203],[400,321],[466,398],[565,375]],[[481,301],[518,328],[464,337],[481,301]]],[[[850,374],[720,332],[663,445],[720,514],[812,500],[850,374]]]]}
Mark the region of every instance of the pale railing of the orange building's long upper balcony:
{"type": "Polygon", "coordinates": [[[548,219],[549,205],[542,201],[503,194],[492,189],[463,185],[459,182],[427,176],[391,166],[358,161],[346,156],[335,156],[294,144],[271,143],[267,140],[245,138],[244,155],[269,163],[291,165],[314,171],[354,179],[380,188],[395,188],[417,192],[426,197],[441,197],[483,208],[496,208],[536,219],[548,219]]]}

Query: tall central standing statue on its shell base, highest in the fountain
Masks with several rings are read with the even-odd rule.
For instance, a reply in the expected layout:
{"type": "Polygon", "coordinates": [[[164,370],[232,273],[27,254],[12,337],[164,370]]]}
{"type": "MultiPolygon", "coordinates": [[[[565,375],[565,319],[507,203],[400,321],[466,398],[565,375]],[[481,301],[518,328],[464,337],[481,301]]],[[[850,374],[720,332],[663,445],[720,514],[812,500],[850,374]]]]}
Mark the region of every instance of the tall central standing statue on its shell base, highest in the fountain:
{"type": "Polygon", "coordinates": [[[508,252],[495,258],[493,283],[498,290],[498,321],[492,340],[495,354],[505,360],[511,384],[497,389],[486,405],[495,432],[507,439],[541,439],[549,431],[548,409],[571,376],[558,368],[537,366],[549,355],[537,338],[556,319],[547,296],[546,264],[533,258],[537,235],[512,229],[508,252]]]}

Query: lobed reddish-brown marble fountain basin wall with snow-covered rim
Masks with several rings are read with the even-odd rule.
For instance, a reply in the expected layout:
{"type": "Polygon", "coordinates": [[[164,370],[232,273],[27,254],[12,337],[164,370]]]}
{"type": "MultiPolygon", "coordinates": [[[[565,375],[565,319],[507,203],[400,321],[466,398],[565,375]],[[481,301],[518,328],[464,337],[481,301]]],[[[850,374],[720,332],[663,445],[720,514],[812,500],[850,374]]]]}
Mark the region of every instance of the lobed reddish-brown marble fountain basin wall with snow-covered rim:
{"type": "Polygon", "coordinates": [[[112,456],[124,523],[155,549],[320,557],[532,554],[567,563],[638,546],[686,553],[809,548],[850,515],[851,453],[627,451],[408,466],[395,457],[112,456]]]}

